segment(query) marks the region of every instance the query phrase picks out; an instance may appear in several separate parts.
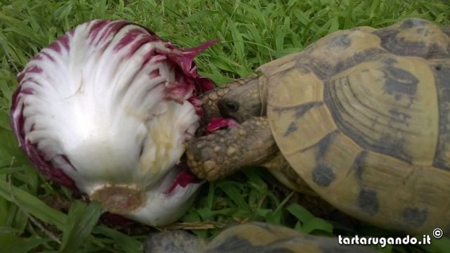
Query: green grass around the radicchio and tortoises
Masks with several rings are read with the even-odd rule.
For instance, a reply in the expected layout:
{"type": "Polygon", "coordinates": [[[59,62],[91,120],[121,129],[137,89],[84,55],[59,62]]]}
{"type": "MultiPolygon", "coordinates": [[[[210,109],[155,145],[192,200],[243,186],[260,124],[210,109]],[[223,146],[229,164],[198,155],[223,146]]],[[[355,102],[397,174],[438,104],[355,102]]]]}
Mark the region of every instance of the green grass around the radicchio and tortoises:
{"type": "MultiPolygon", "coordinates": [[[[361,25],[383,27],[407,17],[450,23],[450,3],[439,0],[306,1],[7,1],[0,0],[0,245],[5,252],[141,252],[149,229],[98,223],[101,209],[75,200],[46,181],[18,148],[9,126],[15,74],[41,48],[87,20],[125,19],[145,25],[180,47],[220,39],[197,58],[200,73],[217,85],[252,74],[269,60],[300,51],[317,39],[361,25]],[[46,200],[46,201],[44,201],[46,200]],[[49,201],[50,200],[50,201],[49,201]],[[60,201],[56,201],[60,200],[60,201]],[[51,203],[52,207],[45,203],[51,203]]],[[[274,188],[261,168],[205,184],[177,225],[208,238],[226,224],[257,220],[323,235],[385,235],[314,217],[295,194],[274,188]],[[209,228],[209,229],[204,229],[209,228]]],[[[172,226],[175,228],[176,226],[172,226]]],[[[170,227],[169,227],[170,228],[170,227]]],[[[445,238],[430,252],[450,247],[445,238]]],[[[383,252],[420,252],[387,247],[383,252]]]]}

